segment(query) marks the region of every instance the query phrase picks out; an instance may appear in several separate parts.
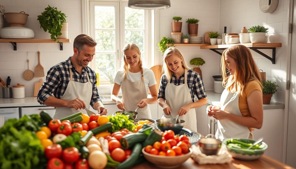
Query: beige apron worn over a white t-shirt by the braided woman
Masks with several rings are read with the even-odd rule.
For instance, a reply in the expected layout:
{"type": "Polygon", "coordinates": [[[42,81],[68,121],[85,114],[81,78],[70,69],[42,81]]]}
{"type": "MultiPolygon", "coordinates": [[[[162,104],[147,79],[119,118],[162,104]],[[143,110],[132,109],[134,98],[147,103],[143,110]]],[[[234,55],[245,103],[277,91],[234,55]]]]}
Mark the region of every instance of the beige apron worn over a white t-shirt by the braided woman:
{"type": "MultiPolygon", "coordinates": [[[[144,72],[143,72],[144,73],[144,72]]],[[[137,104],[147,98],[144,77],[141,76],[141,81],[132,82],[128,79],[123,79],[121,83],[122,98],[125,106],[125,110],[135,111],[138,107],[137,104]]],[[[137,118],[149,118],[151,119],[151,112],[149,105],[139,108],[137,110],[137,118]]]]}

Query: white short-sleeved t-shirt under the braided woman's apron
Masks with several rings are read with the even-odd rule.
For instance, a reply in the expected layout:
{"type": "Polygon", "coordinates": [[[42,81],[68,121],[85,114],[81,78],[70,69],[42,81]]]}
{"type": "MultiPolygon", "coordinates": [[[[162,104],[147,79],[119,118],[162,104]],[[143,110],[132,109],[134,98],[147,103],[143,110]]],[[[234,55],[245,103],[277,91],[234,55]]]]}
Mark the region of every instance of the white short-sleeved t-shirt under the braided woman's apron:
{"type": "MultiPolygon", "coordinates": [[[[118,70],[115,75],[114,82],[121,85],[123,79],[124,79],[123,78],[123,71],[118,70]]],[[[130,71],[128,71],[127,79],[132,82],[140,81],[141,80],[141,72],[131,73],[130,71]]],[[[144,68],[144,83],[145,83],[147,95],[148,95],[149,87],[157,84],[153,71],[150,69],[147,69],[147,68],[144,68]]]]}

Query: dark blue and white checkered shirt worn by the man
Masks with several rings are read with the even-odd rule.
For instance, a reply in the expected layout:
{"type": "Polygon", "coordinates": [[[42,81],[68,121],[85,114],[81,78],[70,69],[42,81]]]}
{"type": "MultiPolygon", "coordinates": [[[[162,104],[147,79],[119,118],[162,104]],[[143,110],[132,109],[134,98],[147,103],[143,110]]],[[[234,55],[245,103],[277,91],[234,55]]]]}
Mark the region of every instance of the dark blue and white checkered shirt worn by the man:
{"type": "Polygon", "coordinates": [[[66,61],[54,65],[52,68],[49,69],[49,71],[47,72],[46,80],[41,86],[41,89],[39,90],[37,95],[37,101],[40,104],[44,104],[44,101],[49,98],[49,96],[54,96],[58,99],[63,96],[70,81],[70,69],[72,69],[73,80],[75,82],[87,83],[86,73],[88,73],[89,80],[93,86],[93,95],[89,104],[93,107],[95,102],[102,102],[98,93],[98,89],[96,87],[96,73],[94,72],[94,70],[91,70],[90,67],[84,67],[82,70],[82,74],[80,74],[72,65],[70,59],[71,57],[69,57],[69,59],[67,59],[66,61]]]}

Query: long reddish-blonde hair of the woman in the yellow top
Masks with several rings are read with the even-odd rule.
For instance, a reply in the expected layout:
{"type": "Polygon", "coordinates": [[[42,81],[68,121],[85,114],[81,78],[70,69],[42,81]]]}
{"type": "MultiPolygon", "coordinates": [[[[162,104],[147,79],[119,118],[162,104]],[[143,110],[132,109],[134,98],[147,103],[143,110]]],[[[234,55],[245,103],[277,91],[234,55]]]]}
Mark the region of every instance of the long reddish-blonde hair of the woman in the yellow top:
{"type": "Polygon", "coordinates": [[[239,91],[240,96],[249,81],[258,80],[259,83],[261,81],[259,70],[252,57],[251,51],[243,45],[235,45],[223,51],[221,69],[223,86],[225,86],[229,91],[231,86],[233,86],[235,92],[239,91]],[[233,58],[237,63],[237,70],[233,76],[227,76],[225,55],[233,58]]]}

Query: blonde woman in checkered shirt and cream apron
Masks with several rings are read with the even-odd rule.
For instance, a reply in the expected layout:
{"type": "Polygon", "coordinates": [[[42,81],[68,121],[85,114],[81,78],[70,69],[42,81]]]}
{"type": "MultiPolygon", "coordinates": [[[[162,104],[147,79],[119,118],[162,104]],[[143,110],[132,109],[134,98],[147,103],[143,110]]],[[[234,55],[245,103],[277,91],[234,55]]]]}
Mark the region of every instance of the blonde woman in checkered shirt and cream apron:
{"type": "Polygon", "coordinates": [[[163,107],[162,118],[170,118],[170,113],[173,117],[179,114],[179,119],[185,120],[184,125],[197,131],[194,108],[207,104],[200,74],[187,66],[175,47],[168,48],[163,54],[163,72],[158,93],[158,104],[163,107]]]}

